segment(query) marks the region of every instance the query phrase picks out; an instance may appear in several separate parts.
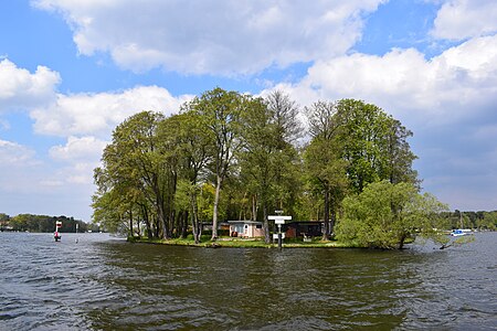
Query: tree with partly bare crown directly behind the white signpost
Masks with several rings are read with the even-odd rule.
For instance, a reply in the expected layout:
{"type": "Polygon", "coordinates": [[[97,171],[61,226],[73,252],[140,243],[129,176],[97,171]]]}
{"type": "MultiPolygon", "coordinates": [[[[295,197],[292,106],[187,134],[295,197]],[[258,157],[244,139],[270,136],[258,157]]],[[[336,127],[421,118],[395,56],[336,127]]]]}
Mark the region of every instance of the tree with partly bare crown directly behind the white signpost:
{"type": "MultiPolygon", "coordinates": [[[[241,177],[246,191],[252,193],[252,216],[256,221],[262,209],[264,235],[271,242],[268,210],[286,200],[282,192],[290,192],[285,174],[292,172],[295,148],[292,141],[299,132],[298,108],[281,92],[266,99],[252,98],[241,116],[242,149],[239,153],[241,177]]],[[[244,194],[246,199],[246,192],[244,194]]],[[[281,209],[281,206],[278,206],[281,209]]]]}

